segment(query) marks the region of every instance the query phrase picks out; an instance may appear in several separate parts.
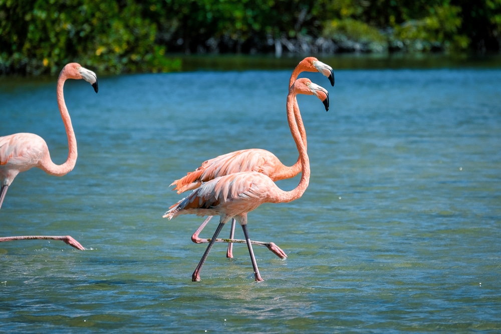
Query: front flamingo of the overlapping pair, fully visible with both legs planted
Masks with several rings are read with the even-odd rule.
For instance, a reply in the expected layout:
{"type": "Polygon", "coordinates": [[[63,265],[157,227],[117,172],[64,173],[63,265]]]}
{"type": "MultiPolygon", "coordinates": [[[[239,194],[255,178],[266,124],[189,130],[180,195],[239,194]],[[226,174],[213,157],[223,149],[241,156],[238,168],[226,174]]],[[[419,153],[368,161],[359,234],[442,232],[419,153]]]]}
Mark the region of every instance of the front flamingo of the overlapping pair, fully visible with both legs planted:
{"type": "Polygon", "coordinates": [[[254,269],[255,280],[264,280],[260,275],[252,242],[248,235],[247,212],[258,208],[263,203],[291,202],[300,198],[306,191],[306,188],[308,188],[310,182],[310,160],[299,132],[299,128],[303,124],[300,124],[302,122],[301,118],[295,115],[300,113],[299,108],[294,108],[294,105],[297,103],[297,94],[315,95],[322,100],[326,109],[329,106],[329,93],[327,90],[312,83],[309,79],[298,79],[289,89],[287,96],[287,120],[299,151],[302,168],[301,180],[295,189],[284,191],[268,175],[257,171],[236,172],[202,183],[188,196],[170,206],[169,210],[163,215],[164,218],[168,218],[169,220],[182,214],[220,216],[219,225],[191,276],[192,281],[200,280],[200,270],[212,245],[217,241],[217,235],[224,224],[233,217],[242,226],[254,269]]]}

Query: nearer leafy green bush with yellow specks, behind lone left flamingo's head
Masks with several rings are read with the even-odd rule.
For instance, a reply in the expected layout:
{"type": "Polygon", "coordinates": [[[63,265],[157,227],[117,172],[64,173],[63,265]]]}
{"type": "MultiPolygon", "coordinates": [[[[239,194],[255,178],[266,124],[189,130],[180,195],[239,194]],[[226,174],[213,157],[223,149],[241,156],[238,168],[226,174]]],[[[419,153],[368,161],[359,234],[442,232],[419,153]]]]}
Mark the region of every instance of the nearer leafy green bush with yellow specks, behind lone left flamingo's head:
{"type": "Polygon", "coordinates": [[[57,74],[69,62],[108,73],[178,70],[140,10],[131,0],[0,0],[0,72],[57,74]]]}

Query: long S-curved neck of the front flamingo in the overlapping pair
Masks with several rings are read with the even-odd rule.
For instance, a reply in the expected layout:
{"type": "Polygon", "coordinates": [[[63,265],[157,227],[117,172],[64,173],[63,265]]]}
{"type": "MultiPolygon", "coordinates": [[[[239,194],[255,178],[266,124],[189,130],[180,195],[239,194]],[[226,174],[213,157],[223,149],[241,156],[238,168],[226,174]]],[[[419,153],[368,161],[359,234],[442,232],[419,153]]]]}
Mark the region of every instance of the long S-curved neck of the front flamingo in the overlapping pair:
{"type": "Polygon", "coordinates": [[[301,170],[303,172],[301,173],[301,180],[296,188],[291,191],[281,191],[281,195],[277,198],[278,202],[281,203],[291,202],[300,198],[303,196],[306,188],[308,188],[308,185],[310,184],[310,158],[308,157],[306,146],[299,131],[299,128],[304,128],[304,124],[301,119],[296,93],[294,92],[289,92],[289,95],[287,96],[287,121],[289,122],[292,137],[294,138],[299,151],[301,170]]]}

